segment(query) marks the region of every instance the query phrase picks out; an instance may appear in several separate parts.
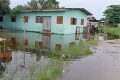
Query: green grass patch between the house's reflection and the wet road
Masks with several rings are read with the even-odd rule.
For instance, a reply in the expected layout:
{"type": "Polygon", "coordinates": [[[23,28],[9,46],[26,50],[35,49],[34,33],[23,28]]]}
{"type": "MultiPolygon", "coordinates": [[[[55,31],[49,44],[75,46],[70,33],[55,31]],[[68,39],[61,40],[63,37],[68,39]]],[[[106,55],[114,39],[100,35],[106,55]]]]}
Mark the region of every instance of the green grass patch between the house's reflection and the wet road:
{"type": "Polygon", "coordinates": [[[96,40],[80,42],[79,45],[72,45],[68,47],[65,51],[65,55],[69,59],[90,55],[93,53],[90,47],[96,46],[97,44],[98,41],[96,40]]]}

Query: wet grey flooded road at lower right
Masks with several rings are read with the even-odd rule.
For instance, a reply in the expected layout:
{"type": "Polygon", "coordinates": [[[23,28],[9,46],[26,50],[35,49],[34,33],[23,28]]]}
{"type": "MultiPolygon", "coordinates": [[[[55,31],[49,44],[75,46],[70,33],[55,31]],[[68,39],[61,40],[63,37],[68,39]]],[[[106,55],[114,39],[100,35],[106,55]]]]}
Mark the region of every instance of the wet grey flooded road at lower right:
{"type": "Polygon", "coordinates": [[[101,41],[91,56],[71,61],[61,80],[120,80],[120,40],[101,41]]]}

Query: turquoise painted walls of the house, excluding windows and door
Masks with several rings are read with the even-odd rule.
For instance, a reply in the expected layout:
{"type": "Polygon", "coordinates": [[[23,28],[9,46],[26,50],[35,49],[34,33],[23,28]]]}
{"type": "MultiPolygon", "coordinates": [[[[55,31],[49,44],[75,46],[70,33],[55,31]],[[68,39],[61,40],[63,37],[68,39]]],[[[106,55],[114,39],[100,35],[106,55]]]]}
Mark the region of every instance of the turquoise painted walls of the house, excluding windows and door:
{"type": "Polygon", "coordinates": [[[76,32],[76,26],[80,26],[80,32],[83,33],[83,27],[87,26],[87,15],[80,10],[66,10],[59,12],[23,12],[17,14],[16,22],[11,22],[12,15],[5,15],[2,26],[10,30],[26,30],[42,32],[42,23],[36,23],[36,16],[51,16],[51,33],[71,34],[76,32]],[[24,16],[28,16],[28,23],[24,23],[24,16]],[[63,16],[63,24],[57,24],[57,16],[63,16]],[[71,18],[77,18],[77,24],[71,25],[71,18]],[[80,25],[80,20],[84,19],[84,25],[80,25]]]}

